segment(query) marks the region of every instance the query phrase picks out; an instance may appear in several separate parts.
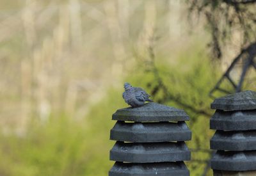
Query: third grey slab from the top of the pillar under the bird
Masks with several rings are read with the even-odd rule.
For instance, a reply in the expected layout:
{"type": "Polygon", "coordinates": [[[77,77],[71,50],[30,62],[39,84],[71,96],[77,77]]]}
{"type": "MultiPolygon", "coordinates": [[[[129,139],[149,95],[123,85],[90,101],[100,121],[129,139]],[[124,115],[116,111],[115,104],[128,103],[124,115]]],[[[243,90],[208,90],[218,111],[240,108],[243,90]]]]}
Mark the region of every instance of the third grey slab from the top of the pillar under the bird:
{"type": "Polygon", "coordinates": [[[184,142],[124,143],[117,141],[110,151],[110,160],[131,163],[156,163],[190,160],[184,142]]]}

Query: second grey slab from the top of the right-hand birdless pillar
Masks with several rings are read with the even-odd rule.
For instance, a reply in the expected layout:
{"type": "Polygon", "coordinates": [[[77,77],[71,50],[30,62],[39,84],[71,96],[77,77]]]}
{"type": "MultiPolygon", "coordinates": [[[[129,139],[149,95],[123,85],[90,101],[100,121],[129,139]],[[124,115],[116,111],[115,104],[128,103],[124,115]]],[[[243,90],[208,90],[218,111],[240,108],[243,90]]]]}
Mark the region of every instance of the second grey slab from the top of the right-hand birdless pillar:
{"type": "Polygon", "coordinates": [[[256,129],[256,111],[216,110],[210,120],[210,129],[244,131],[256,129]]]}

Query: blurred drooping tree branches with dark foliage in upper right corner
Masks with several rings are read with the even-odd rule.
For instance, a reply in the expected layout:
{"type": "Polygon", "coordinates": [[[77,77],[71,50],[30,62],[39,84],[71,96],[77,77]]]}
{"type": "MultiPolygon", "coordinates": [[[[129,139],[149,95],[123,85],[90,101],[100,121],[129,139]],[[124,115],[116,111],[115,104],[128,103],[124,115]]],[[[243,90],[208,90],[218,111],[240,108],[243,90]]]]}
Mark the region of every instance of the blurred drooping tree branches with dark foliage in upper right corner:
{"type": "Polygon", "coordinates": [[[241,49],[256,42],[256,1],[190,0],[188,2],[189,12],[197,12],[198,15],[205,16],[205,22],[211,31],[212,41],[209,46],[214,58],[222,58],[225,45],[232,40],[235,33],[241,36],[239,44],[241,49]]]}

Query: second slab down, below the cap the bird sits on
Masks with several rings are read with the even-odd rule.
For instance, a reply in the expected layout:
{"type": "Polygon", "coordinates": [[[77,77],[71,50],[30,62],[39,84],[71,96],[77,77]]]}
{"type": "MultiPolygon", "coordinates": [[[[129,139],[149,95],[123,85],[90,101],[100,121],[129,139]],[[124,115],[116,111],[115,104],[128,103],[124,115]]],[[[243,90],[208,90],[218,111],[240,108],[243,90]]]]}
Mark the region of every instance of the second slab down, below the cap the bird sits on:
{"type": "Polygon", "coordinates": [[[110,131],[110,139],[131,142],[188,141],[191,131],[185,122],[116,122],[110,131]]]}

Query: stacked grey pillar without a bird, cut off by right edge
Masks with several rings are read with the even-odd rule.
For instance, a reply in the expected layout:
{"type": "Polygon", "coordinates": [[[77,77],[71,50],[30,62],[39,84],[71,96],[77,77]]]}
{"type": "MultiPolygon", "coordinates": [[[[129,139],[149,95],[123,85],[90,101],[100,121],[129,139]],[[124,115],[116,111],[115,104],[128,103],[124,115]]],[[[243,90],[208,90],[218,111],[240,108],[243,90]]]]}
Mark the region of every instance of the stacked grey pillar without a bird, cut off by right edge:
{"type": "Polygon", "coordinates": [[[211,104],[216,112],[210,128],[216,130],[211,149],[215,176],[256,175],[256,92],[227,95],[211,104]]]}

